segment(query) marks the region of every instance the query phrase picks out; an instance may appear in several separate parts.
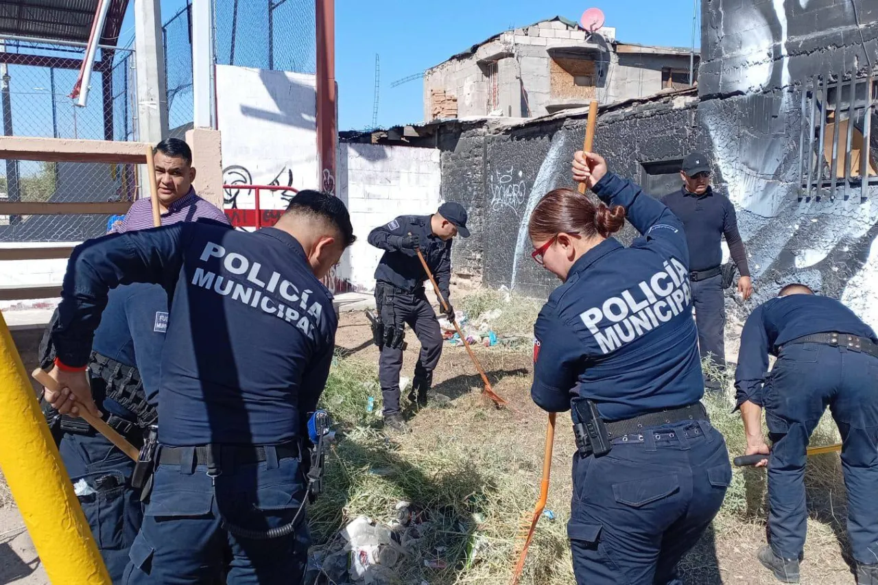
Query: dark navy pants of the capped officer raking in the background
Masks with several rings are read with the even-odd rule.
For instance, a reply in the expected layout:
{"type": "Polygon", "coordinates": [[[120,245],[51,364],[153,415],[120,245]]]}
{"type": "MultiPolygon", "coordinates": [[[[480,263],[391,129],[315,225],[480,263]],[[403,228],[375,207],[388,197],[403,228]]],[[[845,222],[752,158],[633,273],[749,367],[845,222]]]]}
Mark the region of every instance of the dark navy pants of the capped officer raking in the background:
{"type": "MultiPolygon", "coordinates": [[[[439,329],[435,311],[423,291],[415,294],[394,293],[390,302],[397,322],[407,323],[421,342],[421,355],[418,356],[418,363],[414,365],[414,379],[422,380],[430,386],[433,370],[442,356],[442,330],[439,329]]],[[[382,319],[386,319],[384,315],[382,319]]],[[[385,415],[399,412],[399,372],[401,371],[402,350],[383,347],[378,358],[378,379],[381,382],[385,415]]]]}

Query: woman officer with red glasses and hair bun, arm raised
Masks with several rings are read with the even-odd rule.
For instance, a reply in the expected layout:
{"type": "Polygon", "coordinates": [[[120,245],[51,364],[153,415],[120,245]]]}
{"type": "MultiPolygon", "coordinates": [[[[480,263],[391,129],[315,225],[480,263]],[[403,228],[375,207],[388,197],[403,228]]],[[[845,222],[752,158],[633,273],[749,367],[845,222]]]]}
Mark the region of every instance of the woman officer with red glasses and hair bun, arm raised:
{"type": "Polygon", "coordinates": [[[570,189],[547,194],[530,218],[534,259],[564,284],[534,327],[531,395],[572,408],[573,569],[579,585],[681,583],[680,557],[701,536],[731,479],[722,435],[699,399],[698,359],[682,225],[636,184],[578,152],[570,189]],[[627,216],[643,235],[609,235],[627,216]]]}

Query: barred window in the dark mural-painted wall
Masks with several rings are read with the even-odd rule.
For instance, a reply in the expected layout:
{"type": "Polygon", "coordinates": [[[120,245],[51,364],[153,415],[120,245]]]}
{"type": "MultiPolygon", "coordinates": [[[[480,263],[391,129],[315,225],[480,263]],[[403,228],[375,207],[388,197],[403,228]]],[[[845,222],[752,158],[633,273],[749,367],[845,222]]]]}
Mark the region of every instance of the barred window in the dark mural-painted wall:
{"type": "Polygon", "coordinates": [[[814,76],[802,89],[800,200],[866,199],[869,185],[878,185],[870,148],[875,105],[873,76],[814,76]]]}

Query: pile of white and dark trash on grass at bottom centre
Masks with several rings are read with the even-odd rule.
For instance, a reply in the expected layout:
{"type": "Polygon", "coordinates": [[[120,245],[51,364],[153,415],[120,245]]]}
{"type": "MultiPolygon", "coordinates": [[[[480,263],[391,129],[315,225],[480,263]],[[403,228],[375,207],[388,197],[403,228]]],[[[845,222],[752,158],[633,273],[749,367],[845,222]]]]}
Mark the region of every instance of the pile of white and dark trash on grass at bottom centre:
{"type": "MultiPolygon", "coordinates": [[[[484,522],[484,518],[477,516],[473,515],[477,524],[484,522]]],[[[463,523],[457,524],[457,530],[465,533],[463,523]]],[[[428,511],[411,502],[398,502],[396,519],[387,525],[373,522],[367,516],[357,516],[329,545],[311,550],[303,582],[389,585],[399,581],[399,568],[405,560],[418,561],[428,571],[446,569],[450,564],[443,554],[448,552],[448,547],[426,550],[425,538],[431,526],[428,511]]],[[[487,545],[486,538],[473,535],[467,546],[464,567],[471,567],[487,545]]],[[[427,582],[413,581],[414,585],[427,582]]]]}

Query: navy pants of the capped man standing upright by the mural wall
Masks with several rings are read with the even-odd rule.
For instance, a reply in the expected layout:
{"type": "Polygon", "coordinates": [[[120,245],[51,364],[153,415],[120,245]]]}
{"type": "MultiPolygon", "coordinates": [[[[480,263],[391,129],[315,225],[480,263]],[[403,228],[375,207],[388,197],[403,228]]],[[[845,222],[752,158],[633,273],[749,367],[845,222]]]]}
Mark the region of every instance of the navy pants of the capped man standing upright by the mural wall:
{"type": "MultiPolygon", "coordinates": [[[[698,328],[698,351],[702,360],[710,355],[711,361],[721,371],[725,370],[725,299],[723,275],[705,278],[692,283],[692,304],[695,308],[695,326],[698,328]]],[[[705,385],[720,389],[719,380],[708,379],[705,385]]]]}

